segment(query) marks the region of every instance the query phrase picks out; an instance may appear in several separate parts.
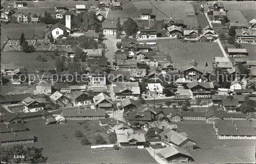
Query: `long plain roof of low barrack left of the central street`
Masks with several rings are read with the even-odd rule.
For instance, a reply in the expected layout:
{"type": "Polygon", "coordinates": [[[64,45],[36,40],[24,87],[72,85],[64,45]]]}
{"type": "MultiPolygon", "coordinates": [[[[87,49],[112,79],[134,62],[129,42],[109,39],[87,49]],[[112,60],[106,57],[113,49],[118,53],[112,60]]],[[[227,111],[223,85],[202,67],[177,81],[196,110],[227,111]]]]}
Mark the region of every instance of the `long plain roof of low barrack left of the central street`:
{"type": "Polygon", "coordinates": [[[63,109],[63,117],[105,117],[105,109],[63,109]]]}

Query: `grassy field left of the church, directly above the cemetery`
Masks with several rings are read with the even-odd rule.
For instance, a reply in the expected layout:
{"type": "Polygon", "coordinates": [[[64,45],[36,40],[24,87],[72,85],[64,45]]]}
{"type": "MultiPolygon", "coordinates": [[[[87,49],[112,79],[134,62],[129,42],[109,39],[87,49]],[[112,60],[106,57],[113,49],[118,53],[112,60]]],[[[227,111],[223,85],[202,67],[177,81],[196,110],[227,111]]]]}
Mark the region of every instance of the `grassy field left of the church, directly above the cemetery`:
{"type": "Polygon", "coordinates": [[[35,35],[43,35],[46,28],[44,23],[24,23],[24,24],[1,24],[1,45],[6,41],[7,36],[11,39],[19,39],[21,33],[26,39],[32,39],[35,27],[35,35]]]}

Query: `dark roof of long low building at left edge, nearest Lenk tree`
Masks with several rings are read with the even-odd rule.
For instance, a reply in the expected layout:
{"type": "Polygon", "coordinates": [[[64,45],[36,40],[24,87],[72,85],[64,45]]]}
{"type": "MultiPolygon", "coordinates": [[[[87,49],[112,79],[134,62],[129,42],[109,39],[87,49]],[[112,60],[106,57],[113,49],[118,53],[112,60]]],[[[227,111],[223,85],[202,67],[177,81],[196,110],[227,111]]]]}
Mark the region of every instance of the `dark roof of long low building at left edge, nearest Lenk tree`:
{"type": "Polygon", "coordinates": [[[2,133],[1,142],[34,140],[34,136],[30,131],[18,131],[14,133],[2,133]]]}

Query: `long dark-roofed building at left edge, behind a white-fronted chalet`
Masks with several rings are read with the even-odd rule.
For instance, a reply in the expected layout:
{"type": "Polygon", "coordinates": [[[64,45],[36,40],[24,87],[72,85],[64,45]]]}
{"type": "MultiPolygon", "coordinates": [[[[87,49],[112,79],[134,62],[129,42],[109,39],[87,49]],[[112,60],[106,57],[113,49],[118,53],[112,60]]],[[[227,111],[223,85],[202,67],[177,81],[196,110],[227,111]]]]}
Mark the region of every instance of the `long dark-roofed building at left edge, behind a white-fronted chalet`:
{"type": "Polygon", "coordinates": [[[19,104],[27,97],[31,97],[31,94],[1,95],[1,104],[19,104]]]}

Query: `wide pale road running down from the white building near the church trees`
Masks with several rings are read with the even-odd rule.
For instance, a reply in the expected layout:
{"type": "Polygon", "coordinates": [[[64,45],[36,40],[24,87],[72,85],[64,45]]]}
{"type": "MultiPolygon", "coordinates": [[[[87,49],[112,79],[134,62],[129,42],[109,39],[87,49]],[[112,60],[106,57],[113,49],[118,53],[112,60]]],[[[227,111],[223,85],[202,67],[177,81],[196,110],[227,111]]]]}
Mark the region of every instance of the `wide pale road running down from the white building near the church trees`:
{"type": "Polygon", "coordinates": [[[113,68],[113,56],[114,52],[117,51],[116,43],[116,35],[105,35],[105,40],[103,43],[106,44],[106,53],[105,57],[108,58],[108,62],[110,62],[111,68],[113,68]]]}

